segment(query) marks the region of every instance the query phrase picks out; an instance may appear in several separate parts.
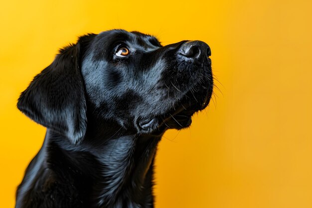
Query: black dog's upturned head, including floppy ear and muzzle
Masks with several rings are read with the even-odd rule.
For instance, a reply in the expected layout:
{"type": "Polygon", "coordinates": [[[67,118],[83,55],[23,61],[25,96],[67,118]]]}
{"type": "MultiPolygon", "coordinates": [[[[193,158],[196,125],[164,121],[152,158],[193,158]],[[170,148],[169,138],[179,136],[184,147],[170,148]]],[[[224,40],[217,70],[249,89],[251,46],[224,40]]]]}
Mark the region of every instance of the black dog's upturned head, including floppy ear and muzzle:
{"type": "Polygon", "coordinates": [[[209,103],[210,55],[202,41],[162,46],[140,32],[85,35],[35,76],[17,107],[73,143],[85,136],[89,115],[139,134],[181,129],[209,103]]]}

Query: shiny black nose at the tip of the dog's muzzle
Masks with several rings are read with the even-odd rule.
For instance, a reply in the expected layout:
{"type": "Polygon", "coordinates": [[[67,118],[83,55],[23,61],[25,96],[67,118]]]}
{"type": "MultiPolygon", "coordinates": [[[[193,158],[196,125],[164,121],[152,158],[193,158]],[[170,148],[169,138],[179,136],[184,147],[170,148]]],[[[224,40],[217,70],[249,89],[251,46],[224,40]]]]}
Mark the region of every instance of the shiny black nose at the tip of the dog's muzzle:
{"type": "Polygon", "coordinates": [[[207,43],[199,40],[184,42],[179,50],[180,54],[187,58],[202,59],[211,56],[211,50],[207,43]]]}

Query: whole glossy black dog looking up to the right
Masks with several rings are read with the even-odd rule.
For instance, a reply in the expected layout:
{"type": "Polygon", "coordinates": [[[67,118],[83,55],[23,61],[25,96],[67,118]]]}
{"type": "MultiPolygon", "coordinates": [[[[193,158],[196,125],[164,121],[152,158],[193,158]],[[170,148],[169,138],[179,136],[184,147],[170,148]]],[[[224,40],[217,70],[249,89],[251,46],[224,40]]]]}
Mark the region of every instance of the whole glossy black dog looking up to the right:
{"type": "Polygon", "coordinates": [[[209,46],[140,32],[88,34],[60,50],[17,107],[47,128],[16,208],[153,208],[157,143],[210,100],[209,46]]]}

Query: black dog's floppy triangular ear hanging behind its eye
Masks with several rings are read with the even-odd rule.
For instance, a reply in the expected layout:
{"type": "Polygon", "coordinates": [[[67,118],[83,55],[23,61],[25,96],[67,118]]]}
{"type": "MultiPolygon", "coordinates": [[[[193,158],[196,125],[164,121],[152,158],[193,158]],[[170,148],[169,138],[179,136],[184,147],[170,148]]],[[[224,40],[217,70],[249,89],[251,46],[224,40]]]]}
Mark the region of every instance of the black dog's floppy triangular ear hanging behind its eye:
{"type": "Polygon", "coordinates": [[[23,91],[17,108],[35,122],[67,136],[74,144],[87,128],[86,100],[79,69],[80,43],[60,50],[23,91]]]}

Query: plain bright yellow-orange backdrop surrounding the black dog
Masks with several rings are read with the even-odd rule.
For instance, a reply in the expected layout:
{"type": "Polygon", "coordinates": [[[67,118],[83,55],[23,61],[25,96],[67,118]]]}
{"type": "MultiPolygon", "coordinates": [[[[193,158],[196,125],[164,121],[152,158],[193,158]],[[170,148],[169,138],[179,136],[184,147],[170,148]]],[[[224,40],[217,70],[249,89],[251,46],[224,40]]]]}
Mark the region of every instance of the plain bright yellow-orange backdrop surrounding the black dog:
{"type": "Polygon", "coordinates": [[[311,13],[311,0],[2,0],[0,207],[45,134],[19,93],[77,36],[124,28],[207,42],[222,83],[191,128],[162,139],[156,208],[312,208],[311,13]]]}

